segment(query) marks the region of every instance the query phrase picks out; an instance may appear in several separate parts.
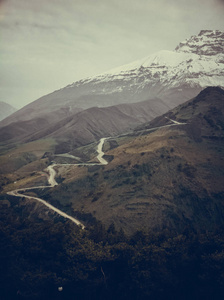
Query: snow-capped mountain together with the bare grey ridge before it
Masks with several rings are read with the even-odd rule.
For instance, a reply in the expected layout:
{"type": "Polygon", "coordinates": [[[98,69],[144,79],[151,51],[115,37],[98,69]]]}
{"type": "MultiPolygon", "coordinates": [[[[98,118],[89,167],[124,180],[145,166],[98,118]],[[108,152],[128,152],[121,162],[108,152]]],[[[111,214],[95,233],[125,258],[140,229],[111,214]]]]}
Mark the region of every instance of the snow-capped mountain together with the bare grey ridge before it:
{"type": "Polygon", "coordinates": [[[221,31],[203,30],[174,51],[160,51],[46,95],[0,122],[0,140],[53,138],[63,153],[133,129],[206,86],[224,86],[223,38],[221,31]]]}

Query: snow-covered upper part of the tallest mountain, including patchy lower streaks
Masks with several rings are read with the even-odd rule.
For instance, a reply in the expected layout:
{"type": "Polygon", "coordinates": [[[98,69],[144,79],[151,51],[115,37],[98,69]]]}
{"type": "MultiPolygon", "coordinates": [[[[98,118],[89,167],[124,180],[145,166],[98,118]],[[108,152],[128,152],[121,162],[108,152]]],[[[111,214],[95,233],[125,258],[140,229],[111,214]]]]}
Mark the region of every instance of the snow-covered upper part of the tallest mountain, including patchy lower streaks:
{"type": "MultiPolygon", "coordinates": [[[[143,89],[150,83],[160,84],[163,88],[187,84],[190,87],[205,88],[209,85],[224,86],[224,33],[204,30],[198,36],[180,43],[175,51],[159,51],[141,60],[112,69],[93,78],[75,82],[66,88],[93,84],[98,93],[120,92],[125,88],[121,82],[129,82],[143,89]],[[104,89],[98,89],[99,83],[116,81],[104,89]]],[[[149,90],[150,91],[150,90],[149,90]]],[[[160,96],[160,95],[157,95],[160,96]]],[[[162,98],[165,97],[165,93],[162,98]]]]}

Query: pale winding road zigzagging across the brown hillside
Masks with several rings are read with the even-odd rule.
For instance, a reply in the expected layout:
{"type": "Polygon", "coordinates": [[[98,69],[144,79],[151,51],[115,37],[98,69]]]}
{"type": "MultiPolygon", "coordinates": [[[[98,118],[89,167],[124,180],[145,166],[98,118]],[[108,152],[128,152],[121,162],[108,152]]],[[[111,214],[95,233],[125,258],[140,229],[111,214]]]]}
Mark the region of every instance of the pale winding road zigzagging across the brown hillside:
{"type": "MultiPolygon", "coordinates": [[[[163,127],[170,127],[170,126],[186,125],[187,124],[187,123],[180,123],[180,122],[177,122],[177,121],[172,120],[172,119],[169,119],[169,120],[173,124],[164,125],[164,126],[160,126],[160,127],[156,127],[156,128],[151,128],[151,129],[145,129],[145,130],[141,130],[141,131],[138,131],[138,132],[141,133],[142,131],[152,131],[152,130],[163,128],[163,127]]],[[[126,133],[126,134],[119,135],[117,137],[129,135],[129,134],[130,133],[126,133]]],[[[34,190],[34,189],[52,188],[52,187],[58,185],[57,181],[55,180],[56,171],[54,170],[54,167],[56,167],[56,166],[63,166],[63,165],[73,165],[73,166],[107,165],[108,162],[103,158],[103,156],[104,156],[103,145],[104,145],[105,140],[107,140],[107,139],[110,139],[110,137],[101,138],[100,141],[99,141],[99,144],[97,146],[97,153],[98,153],[97,159],[98,159],[99,163],[53,164],[53,165],[50,165],[50,166],[47,167],[47,171],[49,173],[49,177],[48,177],[48,183],[49,183],[49,185],[46,185],[46,186],[34,186],[34,187],[30,187],[30,188],[20,188],[20,189],[16,189],[16,190],[7,192],[7,194],[10,195],[10,196],[15,196],[15,197],[20,197],[20,198],[24,197],[26,199],[31,199],[31,200],[39,201],[42,204],[44,204],[45,206],[47,206],[49,209],[55,211],[56,213],[58,213],[62,217],[71,220],[73,223],[75,223],[76,225],[78,225],[82,229],[84,229],[85,228],[84,224],[82,224],[79,220],[77,220],[76,218],[73,218],[73,217],[69,216],[68,214],[66,214],[65,212],[61,211],[60,209],[54,207],[53,205],[49,204],[45,200],[43,200],[41,198],[38,198],[38,197],[28,196],[28,195],[22,194],[20,192],[24,193],[26,191],[34,190]]]]}

